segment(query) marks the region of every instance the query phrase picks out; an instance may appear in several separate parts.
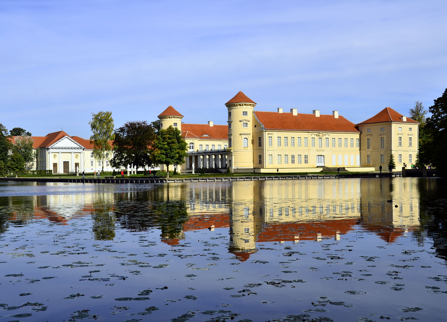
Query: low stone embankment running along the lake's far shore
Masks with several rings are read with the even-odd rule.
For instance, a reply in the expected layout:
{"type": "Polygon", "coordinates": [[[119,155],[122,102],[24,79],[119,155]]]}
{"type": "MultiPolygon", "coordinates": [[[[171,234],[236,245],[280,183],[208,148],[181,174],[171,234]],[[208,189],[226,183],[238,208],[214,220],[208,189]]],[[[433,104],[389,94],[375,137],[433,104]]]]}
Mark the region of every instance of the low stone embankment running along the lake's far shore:
{"type": "Polygon", "coordinates": [[[393,178],[401,177],[402,172],[384,173],[343,173],[343,174],[306,174],[247,177],[206,177],[206,178],[0,178],[16,182],[78,182],[78,183],[177,183],[177,182],[215,182],[215,181],[259,181],[259,180],[304,180],[304,179],[344,179],[344,178],[393,178]]]}

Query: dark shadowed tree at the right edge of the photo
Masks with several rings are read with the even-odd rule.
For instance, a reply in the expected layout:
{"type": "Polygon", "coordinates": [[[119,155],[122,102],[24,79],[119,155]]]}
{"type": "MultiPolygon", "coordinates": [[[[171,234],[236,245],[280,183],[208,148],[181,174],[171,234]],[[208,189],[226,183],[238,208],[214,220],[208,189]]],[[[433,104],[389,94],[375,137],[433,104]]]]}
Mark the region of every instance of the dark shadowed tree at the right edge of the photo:
{"type": "Polygon", "coordinates": [[[447,176],[445,156],[447,151],[447,88],[443,95],[429,107],[431,116],[426,120],[426,164],[437,169],[437,174],[447,176]]]}

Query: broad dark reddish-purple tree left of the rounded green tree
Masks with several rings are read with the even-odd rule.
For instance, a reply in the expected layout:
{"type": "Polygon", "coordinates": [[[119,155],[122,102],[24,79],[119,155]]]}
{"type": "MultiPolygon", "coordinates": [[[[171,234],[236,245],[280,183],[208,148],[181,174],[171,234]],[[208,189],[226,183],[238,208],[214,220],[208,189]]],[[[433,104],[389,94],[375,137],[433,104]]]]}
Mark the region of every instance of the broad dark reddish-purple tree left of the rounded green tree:
{"type": "Polygon", "coordinates": [[[110,161],[115,168],[127,165],[144,168],[152,166],[149,155],[150,147],[155,140],[156,129],[146,121],[127,122],[115,130],[114,157],[110,161]]]}

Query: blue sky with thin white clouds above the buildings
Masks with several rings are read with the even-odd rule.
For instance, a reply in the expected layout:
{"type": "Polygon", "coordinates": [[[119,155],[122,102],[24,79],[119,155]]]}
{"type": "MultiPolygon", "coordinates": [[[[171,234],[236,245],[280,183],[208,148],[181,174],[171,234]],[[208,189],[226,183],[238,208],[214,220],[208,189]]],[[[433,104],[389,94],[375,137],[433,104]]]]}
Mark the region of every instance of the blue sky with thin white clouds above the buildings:
{"type": "Polygon", "coordinates": [[[36,136],[169,105],[226,124],[240,90],[260,111],[357,123],[446,87],[447,1],[0,2],[0,123],[36,136]]]}

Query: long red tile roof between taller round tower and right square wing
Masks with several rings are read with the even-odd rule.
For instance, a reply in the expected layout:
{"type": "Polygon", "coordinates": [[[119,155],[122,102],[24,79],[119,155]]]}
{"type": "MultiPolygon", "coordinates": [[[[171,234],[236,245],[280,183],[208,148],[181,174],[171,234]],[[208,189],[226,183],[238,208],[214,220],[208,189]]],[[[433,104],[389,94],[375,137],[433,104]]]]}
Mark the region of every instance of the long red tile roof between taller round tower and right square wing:
{"type": "Polygon", "coordinates": [[[343,116],[336,119],[332,114],[320,114],[320,117],[301,113],[295,116],[287,112],[255,111],[254,114],[264,128],[270,130],[359,132],[354,123],[343,116]]]}

